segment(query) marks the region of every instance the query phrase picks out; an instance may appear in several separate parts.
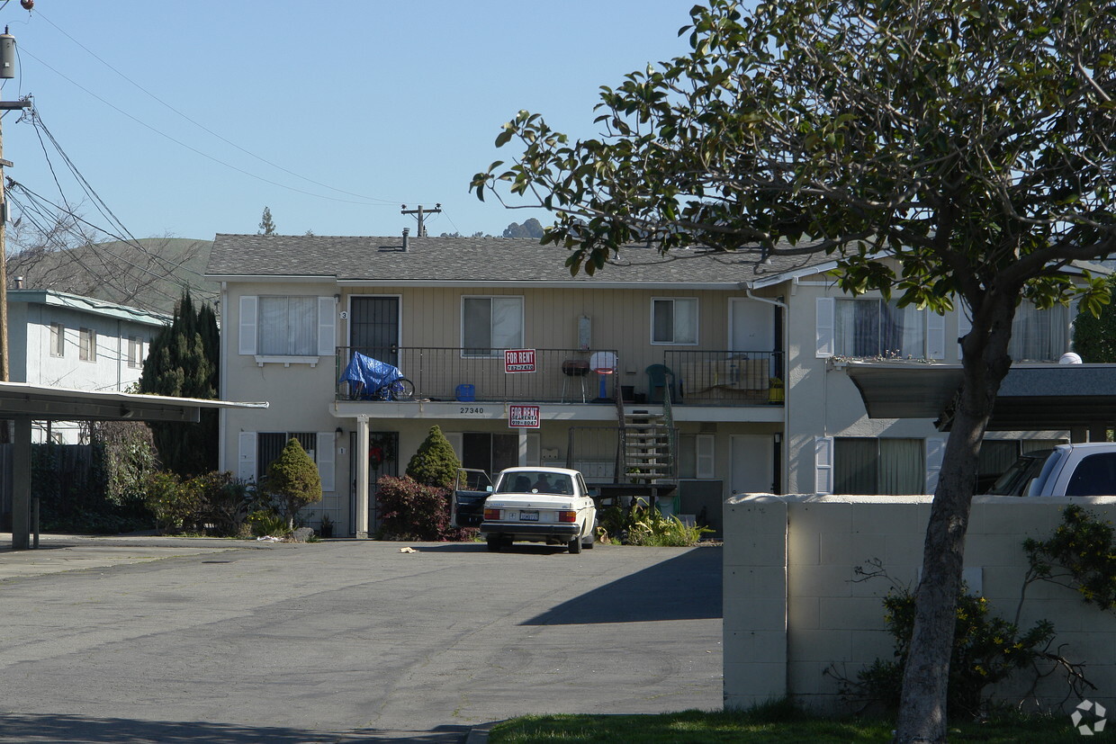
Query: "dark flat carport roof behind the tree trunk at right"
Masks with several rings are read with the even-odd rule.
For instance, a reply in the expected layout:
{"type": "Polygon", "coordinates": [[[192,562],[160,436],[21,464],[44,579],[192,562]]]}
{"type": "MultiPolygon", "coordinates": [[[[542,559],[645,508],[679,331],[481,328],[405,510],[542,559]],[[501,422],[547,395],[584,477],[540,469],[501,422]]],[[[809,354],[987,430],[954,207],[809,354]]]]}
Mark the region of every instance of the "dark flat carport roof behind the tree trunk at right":
{"type": "MultiPolygon", "coordinates": [[[[869,418],[933,418],[949,432],[961,365],[840,363],[869,418]]],[[[1116,365],[1012,365],[1000,385],[989,431],[1064,431],[1074,442],[1103,442],[1116,425],[1116,365]]]]}

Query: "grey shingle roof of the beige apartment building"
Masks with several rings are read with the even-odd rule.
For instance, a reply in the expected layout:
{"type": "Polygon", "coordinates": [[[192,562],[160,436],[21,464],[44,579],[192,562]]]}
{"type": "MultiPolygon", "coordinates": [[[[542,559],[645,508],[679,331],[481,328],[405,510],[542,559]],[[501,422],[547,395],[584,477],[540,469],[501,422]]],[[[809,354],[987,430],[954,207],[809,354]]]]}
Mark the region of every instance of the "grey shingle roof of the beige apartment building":
{"type": "Polygon", "coordinates": [[[624,248],[595,277],[571,278],[568,252],[517,238],[410,238],[218,234],[208,277],[326,277],[338,281],[665,282],[756,283],[820,267],[821,255],[772,257],[680,250],[668,255],[643,245],[624,248]]]}

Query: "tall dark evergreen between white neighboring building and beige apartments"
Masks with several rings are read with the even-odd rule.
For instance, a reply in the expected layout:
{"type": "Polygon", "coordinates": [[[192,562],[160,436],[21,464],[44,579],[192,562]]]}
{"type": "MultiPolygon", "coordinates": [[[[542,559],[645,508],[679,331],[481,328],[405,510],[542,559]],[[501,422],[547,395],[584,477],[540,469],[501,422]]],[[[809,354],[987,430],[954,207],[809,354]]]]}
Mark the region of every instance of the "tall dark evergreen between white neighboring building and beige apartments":
{"type": "MultiPolygon", "coordinates": [[[[140,376],[140,392],[186,398],[218,397],[220,339],[217,313],[206,303],[194,307],[190,290],[174,319],[151,342],[140,376]]],[[[150,424],[163,467],[184,477],[217,467],[217,410],[202,410],[198,424],[150,424]]]]}

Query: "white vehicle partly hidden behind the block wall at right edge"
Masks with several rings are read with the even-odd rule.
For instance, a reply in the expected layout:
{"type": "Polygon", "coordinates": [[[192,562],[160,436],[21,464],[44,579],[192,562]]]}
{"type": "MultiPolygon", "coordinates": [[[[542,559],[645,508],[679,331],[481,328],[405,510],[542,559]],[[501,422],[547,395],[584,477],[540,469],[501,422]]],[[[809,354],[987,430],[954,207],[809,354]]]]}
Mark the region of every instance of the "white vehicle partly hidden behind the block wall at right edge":
{"type": "Polygon", "coordinates": [[[1002,496],[1116,495],[1116,443],[1060,444],[1017,460],[988,491],[1002,496]]]}

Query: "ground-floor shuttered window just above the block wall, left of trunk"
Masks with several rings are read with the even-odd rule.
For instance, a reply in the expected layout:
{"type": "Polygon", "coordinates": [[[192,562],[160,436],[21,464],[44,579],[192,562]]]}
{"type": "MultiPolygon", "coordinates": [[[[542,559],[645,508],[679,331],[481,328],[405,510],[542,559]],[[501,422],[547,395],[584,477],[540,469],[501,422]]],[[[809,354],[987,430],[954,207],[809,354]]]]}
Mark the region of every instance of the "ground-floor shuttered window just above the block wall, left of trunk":
{"type": "Polygon", "coordinates": [[[834,493],[903,495],[924,493],[922,439],[835,437],[834,493]]]}

